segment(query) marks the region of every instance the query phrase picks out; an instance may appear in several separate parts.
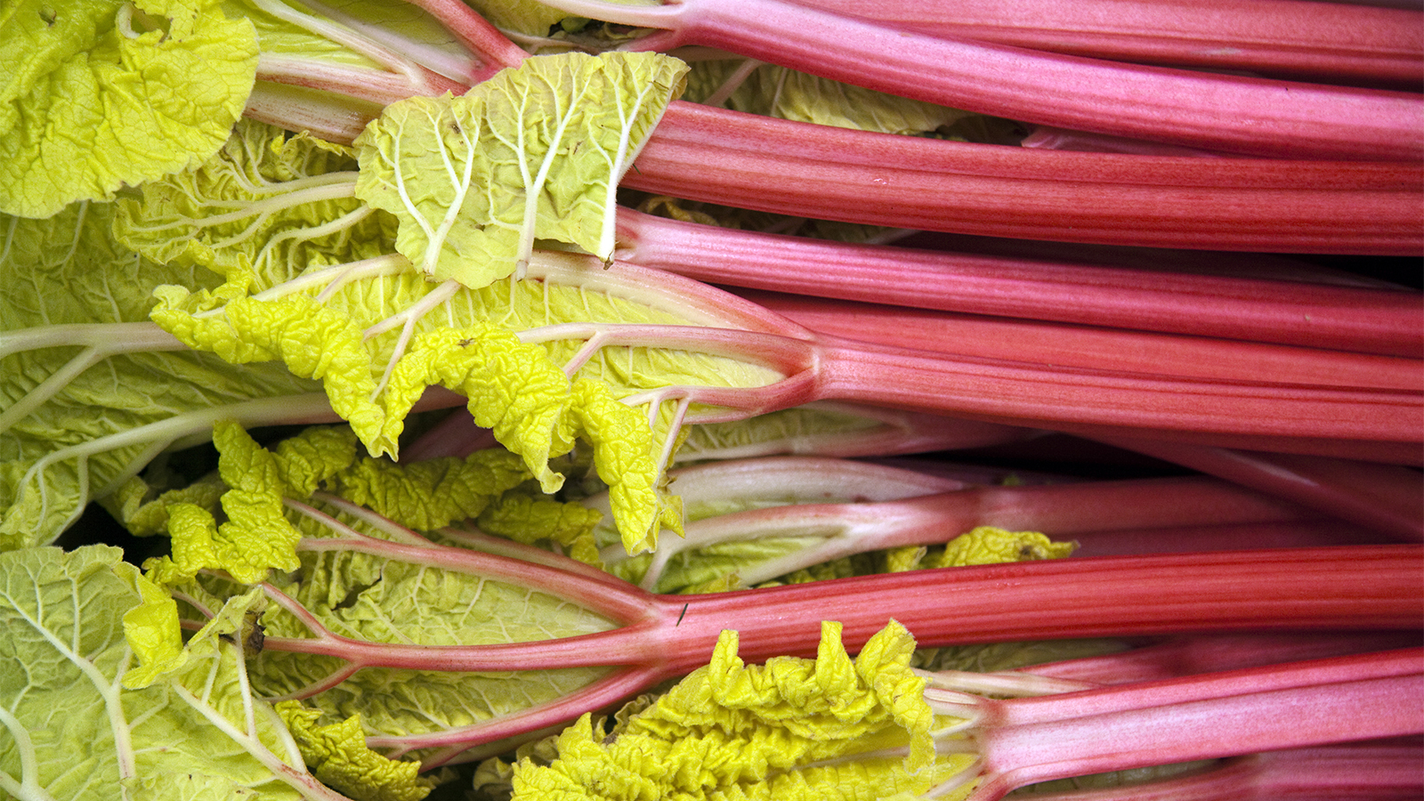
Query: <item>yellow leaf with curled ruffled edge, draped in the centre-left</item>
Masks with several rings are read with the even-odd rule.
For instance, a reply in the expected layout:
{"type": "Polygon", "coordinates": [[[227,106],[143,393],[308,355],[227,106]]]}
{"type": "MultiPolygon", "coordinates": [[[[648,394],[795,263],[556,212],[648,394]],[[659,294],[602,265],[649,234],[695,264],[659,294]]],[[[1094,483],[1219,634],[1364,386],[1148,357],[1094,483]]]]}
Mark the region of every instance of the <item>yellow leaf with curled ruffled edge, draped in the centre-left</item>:
{"type": "MultiPolygon", "coordinates": [[[[562,257],[540,258],[544,269],[544,261],[557,265],[562,257]]],[[[584,288],[591,272],[601,279],[602,271],[577,264],[568,272],[548,267],[543,281],[504,279],[480,291],[431,284],[409,267],[339,281],[339,269],[328,268],[330,284],[300,277],[212,312],[189,311],[189,295],[171,286],[158,292],[152,318],[191,348],[234,362],[281,361],[300,378],[323,381],[330,406],[373,455],[394,455],[406,415],[430,386],[463,395],[474,422],[518,453],[545,492],[564,480],[551,459],[582,439],[615,489],[612,512],[625,544],[646,547],[659,527],[678,522],[676,502],[661,489],[676,400],[665,413],[655,393],[638,405],[624,399],[666,385],[762,386],[779,373],[671,348],[609,345],[584,353],[577,332],[524,341],[524,331],[558,331],[565,321],[688,325],[686,312],[656,298],[584,288]],[[561,366],[568,363],[577,368],[561,366]]]]}

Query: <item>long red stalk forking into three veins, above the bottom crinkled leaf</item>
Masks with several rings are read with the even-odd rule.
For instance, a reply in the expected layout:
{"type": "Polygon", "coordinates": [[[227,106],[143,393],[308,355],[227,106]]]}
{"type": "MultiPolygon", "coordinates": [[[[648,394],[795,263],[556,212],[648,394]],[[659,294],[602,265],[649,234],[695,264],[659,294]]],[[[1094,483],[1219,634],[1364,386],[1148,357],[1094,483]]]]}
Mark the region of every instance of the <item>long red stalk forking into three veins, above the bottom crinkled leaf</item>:
{"type": "MultiPolygon", "coordinates": [[[[303,505],[293,505],[302,507],[303,505]]],[[[308,507],[313,517],[322,515],[308,507]]],[[[342,529],[339,524],[333,524],[342,529]]],[[[725,629],[742,633],[746,658],[816,651],[819,627],[839,620],[850,650],[887,620],[924,646],[1057,637],[1188,631],[1407,629],[1424,613],[1424,550],[1415,546],[1290,549],[1182,556],[1102,557],[917,570],[708,596],[654,596],[587,566],[561,567],[454,547],[414,533],[402,542],[346,530],[302,540],[300,550],[353,550],[431,569],[513,582],[605,616],[607,631],[530,643],[419,646],[367,643],[326,630],[290,597],[269,597],[296,614],[310,637],[268,637],[265,650],[339,657],[346,667],[308,688],[315,694],[366,666],[437,671],[544,670],[607,666],[605,678],[544,706],[407,737],[373,737],[397,753],[436,748],[446,758],[537,731],[646,690],[705,664],[725,629]],[[951,610],[951,611],[947,611],[951,610]]]]}

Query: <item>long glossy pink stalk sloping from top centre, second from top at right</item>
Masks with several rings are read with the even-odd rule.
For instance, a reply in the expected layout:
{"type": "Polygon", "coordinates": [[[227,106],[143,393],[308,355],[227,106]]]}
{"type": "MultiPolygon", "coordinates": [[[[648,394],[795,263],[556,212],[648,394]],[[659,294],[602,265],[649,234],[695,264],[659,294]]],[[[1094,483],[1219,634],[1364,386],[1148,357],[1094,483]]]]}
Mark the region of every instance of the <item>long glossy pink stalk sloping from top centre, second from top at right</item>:
{"type": "Polygon", "coordinates": [[[1011,120],[1276,158],[1424,155],[1424,100],[1411,93],[1142,67],[941,38],[782,0],[548,4],[590,19],[669,30],[629,47],[709,46],[1011,120]]]}

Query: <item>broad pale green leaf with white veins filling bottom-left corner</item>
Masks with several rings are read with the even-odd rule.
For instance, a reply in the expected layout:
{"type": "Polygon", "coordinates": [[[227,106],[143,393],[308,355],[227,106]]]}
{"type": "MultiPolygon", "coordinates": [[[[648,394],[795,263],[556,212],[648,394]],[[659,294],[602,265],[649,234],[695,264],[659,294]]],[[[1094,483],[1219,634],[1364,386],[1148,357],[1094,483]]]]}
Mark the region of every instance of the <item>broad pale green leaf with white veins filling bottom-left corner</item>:
{"type": "Polygon", "coordinates": [[[75,801],[318,791],[281,721],[239,678],[224,639],[234,614],[181,648],[159,647],[185,656],[144,676],[145,687],[121,683],[134,657],[128,620],[152,653],[140,631],[150,621],[125,614],[157,596],[115,547],[0,553],[0,661],[13,667],[0,671],[0,791],[75,801]]]}

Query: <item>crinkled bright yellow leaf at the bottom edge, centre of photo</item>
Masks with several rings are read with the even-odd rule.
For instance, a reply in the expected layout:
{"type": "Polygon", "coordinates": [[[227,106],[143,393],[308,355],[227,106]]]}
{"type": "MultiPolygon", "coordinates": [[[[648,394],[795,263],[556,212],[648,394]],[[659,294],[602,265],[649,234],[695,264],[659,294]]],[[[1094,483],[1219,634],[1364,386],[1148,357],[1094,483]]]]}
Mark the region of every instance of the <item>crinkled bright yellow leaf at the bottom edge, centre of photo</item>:
{"type": "Polygon", "coordinates": [[[723,631],[706,667],[611,733],[591,715],[550,764],[514,765],[514,798],[883,798],[923,792],[968,754],[936,755],[914,640],[897,623],[854,660],[823,623],[815,660],[748,666],[723,631]]]}

